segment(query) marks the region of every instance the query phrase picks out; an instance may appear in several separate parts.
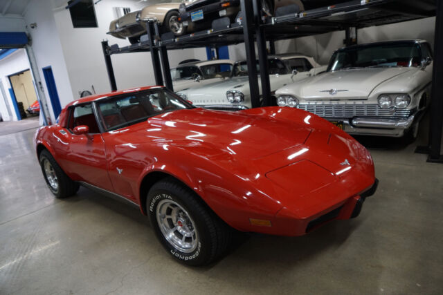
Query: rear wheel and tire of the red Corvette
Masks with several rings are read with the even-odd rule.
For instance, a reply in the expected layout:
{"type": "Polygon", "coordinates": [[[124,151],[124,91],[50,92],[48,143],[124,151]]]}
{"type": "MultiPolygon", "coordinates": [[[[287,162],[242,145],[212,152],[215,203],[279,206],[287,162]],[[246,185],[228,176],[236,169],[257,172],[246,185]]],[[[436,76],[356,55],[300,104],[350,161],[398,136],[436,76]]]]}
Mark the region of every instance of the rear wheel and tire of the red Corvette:
{"type": "Polygon", "coordinates": [[[40,166],[48,188],[55,198],[66,198],[77,193],[79,184],[73,182],[47,150],[43,150],[39,156],[40,166]]]}

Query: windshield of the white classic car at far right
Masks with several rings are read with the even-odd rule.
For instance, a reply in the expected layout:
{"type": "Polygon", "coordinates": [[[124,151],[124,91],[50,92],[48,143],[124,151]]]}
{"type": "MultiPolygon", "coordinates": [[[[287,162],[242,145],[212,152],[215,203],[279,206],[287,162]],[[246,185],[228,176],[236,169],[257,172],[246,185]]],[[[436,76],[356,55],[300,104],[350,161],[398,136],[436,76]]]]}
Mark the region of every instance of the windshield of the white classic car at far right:
{"type": "Polygon", "coordinates": [[[415,42],[355,46],[332,55],[327,71],[350,68],[420,66],[422,50],[415,42]]]}

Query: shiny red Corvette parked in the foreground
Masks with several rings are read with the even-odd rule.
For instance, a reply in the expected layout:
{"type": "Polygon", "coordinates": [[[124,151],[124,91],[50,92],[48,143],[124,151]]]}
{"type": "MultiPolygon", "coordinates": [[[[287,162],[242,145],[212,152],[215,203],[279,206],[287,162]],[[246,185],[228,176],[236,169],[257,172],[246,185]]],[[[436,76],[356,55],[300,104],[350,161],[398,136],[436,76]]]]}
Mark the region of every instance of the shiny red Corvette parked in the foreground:
{"type": "Polygon", "coordinates": [[[300,236],[377,189],[370,153],[316,115],[210,111],[159,86],[71,102],[35,140],[57,198],[82,184],[129,200],[188,265],[221,256],[231,228],[300,236]]]}

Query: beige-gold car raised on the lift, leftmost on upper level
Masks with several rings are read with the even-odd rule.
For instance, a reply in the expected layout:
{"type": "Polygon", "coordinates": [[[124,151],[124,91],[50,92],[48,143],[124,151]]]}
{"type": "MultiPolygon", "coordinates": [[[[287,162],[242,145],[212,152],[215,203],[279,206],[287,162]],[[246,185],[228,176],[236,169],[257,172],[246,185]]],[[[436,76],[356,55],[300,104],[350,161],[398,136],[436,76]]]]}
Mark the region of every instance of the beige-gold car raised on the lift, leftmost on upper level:
{"type": "Polygon", "coordinates": [[[147,32],[144,22],[147,19],[157,19],[164,30],[176,36],[186,34],[186,27],[179,21],[179,6],[179,0],[175,0],[172,3],[154,4],[142,10],[128,12],[123,17],[111,21],[107,34],[120,39],[127,38],[131,44],[136,44],[140,42],[141,35],[147,32]]]}

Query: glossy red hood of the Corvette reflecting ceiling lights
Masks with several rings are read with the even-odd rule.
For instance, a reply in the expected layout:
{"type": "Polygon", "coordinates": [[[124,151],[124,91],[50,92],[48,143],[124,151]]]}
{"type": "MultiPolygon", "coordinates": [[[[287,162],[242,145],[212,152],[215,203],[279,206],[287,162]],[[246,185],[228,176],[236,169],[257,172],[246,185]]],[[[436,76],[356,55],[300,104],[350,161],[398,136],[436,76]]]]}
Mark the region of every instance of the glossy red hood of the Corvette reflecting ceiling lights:
{"type": "MultiPolygon", "coordinates": [[[[151,117],[129,127],[130,133],[156,144],[204,151],[206,158],[221,155],[253,160],[303,144],[311,129],[268,116],[192,108],[151,117]]],[[[129,133],[128,132],[128,133],[129,133]]]]}

